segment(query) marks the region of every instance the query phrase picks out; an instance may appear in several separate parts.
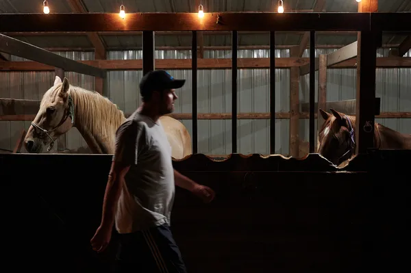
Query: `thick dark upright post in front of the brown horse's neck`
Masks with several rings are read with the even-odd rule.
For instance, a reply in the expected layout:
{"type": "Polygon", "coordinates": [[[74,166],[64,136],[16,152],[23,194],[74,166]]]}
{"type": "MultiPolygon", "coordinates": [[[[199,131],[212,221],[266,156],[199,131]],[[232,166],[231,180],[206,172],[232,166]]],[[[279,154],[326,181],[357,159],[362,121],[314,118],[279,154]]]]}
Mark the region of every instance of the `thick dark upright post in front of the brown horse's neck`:
{"type": "MultiPolygon", "coordinates": [[[[378,1],[361,1],[358,12],[378,12],[378,1]]],[[[376,51],[377,35],[373,31],[358,32],[356,154],[374,147],[376,51]]]]}

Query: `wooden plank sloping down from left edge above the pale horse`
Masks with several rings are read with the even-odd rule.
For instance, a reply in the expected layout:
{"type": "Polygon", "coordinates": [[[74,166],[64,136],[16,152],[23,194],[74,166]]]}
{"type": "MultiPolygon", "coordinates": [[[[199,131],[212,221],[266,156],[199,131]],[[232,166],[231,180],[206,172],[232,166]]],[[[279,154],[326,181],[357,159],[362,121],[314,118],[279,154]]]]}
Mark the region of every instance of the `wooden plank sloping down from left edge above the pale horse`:
{"type": "MultiPolygon", "coordinates": [[[[1,21],[1,19],[0,19],[1,21]]],[[[49,52],[40,47],[36,47],[27,42],[22,42],[3,34],[0,34],[0,51],[18,57],[23,57],[28,60],[48,64],[49,66],[62,68],[66,71],[73,71],[85,75],[95,77],[105,77],[105,72],[101,68],[82,64],[66,57],[62,57],[55,53],[49,52]]]]}

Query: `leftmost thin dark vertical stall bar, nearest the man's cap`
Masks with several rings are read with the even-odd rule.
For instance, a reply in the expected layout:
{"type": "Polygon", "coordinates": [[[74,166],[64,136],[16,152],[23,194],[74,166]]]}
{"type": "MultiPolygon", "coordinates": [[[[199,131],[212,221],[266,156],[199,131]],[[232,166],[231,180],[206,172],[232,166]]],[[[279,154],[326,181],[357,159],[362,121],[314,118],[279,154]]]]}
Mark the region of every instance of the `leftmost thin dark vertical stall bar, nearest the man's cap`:
{"type": "Polygon", "coordinates": [[[192,66],[191,66],[191,106],[192,106],[192,153],[198,153],[198,122],[197,122],[197,31],[192,31],[192,66]]]}

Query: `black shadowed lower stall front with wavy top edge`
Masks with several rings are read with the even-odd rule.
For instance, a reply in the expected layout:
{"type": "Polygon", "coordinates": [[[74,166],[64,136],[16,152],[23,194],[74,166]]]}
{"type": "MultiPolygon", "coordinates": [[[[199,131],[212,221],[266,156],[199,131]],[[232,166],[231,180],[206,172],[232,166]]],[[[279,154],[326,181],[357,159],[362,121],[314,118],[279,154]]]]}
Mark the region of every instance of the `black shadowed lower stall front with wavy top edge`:
{"type": "MultiPolygon", "coordinates": [[[[175,168],[216,190],[177,188],[172,230],[189,272],[395,272],[409,268],[411,151],[377,151],[341,172],[308,159],[204,155],[175,168]]],[[[90,248],[110,155],[0,155],[3,267],[110,272],[90,248]]]]}

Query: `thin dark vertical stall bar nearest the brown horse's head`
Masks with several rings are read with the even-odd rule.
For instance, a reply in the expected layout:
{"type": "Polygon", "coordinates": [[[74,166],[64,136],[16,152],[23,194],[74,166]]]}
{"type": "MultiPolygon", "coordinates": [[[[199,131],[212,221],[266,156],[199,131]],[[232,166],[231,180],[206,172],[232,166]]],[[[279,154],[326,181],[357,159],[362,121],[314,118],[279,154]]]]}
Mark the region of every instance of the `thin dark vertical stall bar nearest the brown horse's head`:
{"type": "Polygon", "coordinates": [[[315,31],[310,31],[310,153],[314,153],[314,106],[315,106],[315,31]]]}

